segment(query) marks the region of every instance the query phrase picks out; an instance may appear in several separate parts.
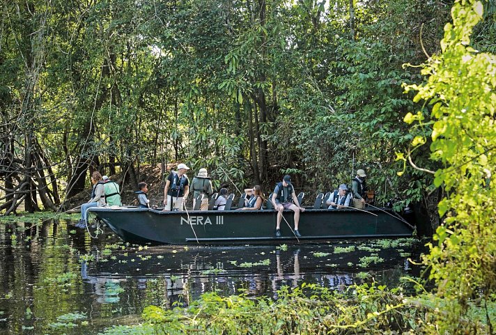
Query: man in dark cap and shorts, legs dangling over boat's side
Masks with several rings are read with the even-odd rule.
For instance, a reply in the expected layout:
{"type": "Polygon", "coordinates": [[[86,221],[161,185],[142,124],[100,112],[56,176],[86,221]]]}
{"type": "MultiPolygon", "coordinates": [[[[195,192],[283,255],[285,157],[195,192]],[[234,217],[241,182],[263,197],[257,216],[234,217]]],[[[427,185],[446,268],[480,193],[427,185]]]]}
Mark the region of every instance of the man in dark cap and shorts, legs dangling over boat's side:
{"type": "Polygon", "coordinates": [[[301,237],[300,231],[298,231],[298,223],[300,222],[300,212],[304,212],[305,209],[300,206],[298,198],[295,194],[295,188],[291,185],[291,177],[289,175],[284,176],[282,182],[278,182],[274,193],[272,194],[272,205],[274,209],[277,210],[277,226],[276,226],[276,237],[281,237],[281,219],[282,212],[284,210],[293,210],[295,212],[295,235],[296,237],[301,237]],[[291,202],[293,199],[293,202],[291,202]]]}

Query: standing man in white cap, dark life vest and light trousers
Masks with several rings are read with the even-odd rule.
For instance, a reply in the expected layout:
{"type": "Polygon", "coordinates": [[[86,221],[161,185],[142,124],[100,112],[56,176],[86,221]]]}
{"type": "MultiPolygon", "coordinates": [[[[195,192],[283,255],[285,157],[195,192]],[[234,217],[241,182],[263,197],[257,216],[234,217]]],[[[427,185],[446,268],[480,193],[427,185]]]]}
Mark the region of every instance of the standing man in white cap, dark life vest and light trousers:
{"type": "Polygon", "coordinates": [[[178,171],[171,171],[165,182],[164,188],[164,210],[183,210],[183,201],[189,194],[189,180],[186,164],[179,164],[178,171]]]}

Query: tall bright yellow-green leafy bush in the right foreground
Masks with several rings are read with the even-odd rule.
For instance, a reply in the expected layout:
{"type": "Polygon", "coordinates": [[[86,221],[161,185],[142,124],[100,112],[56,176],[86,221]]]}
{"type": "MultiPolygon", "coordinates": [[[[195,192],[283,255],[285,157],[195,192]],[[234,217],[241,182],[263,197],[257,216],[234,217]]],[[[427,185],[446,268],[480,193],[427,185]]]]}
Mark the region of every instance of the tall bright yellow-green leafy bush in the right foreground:
{"type": "Polygon", "coordinates": [[[496,288],[496,56],[470,47],[472,29],[483,17],[481,1],[457,0],[451,15],[442,54],[432,56],[422,70],[428,80],[405,86],[418,91],[414,101],[433,106],[428,123],[412,116],[405,120],[432,126],[431,159],[442,166],[434,183],[445,192],[438,205],[443,224],[424,257],[429,279],[443,298],[444,313],[432,334],[472,332],[460,321],[470,299],[483,296],[494,302],[496,288]]]}

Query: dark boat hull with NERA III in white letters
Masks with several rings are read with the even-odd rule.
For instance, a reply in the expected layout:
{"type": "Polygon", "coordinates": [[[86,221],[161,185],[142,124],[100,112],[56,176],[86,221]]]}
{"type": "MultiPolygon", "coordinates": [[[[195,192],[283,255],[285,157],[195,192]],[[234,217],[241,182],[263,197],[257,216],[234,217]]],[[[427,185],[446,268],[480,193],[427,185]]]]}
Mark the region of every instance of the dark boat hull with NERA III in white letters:
{"type": "Polygon", "coordinates": [[[275,210],[162,211],[136,207],[93,207],[96,219],[133,244],[237,244],[309,242],[350,238],[411,237],[414,226],[388,208],[340,210],[306,208],[299,231],[284,210],[281,237],[275,237],[275,210]]]}

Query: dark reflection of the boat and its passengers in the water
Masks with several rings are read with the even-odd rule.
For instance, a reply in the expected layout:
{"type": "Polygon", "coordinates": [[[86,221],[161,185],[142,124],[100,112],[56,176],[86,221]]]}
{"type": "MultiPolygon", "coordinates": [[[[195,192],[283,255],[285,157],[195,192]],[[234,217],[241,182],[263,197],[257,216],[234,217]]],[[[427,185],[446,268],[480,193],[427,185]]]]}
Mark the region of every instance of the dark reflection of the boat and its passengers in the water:
{"type": "Polygon", "coordinates": [[[113,259],[83,265],[82,271],[98,302],[115,302],[118,293],[136,290],[165,306],[189,304],[212,291],[276,298],[281,287],[304,282],[346,290],[373,276],[376,282],[397,285],[401,276],[411,274],[407,257],[417,258],[419,248],[411,240],[397,249],[380,249],[376,243],[150,247],[113,254],[113,259]]]}

